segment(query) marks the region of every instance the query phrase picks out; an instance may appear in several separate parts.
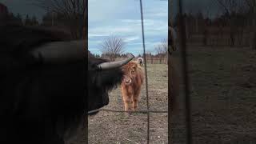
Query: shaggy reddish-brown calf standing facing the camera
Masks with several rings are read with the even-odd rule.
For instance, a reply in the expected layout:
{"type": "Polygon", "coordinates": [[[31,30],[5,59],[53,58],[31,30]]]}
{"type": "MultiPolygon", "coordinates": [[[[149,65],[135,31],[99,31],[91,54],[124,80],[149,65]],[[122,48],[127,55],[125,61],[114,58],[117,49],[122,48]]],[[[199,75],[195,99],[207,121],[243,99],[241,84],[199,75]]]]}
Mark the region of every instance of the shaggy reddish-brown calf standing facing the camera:
{"type": "Polygon", "coordinates": [[[125,110],[136,110],[138,108],[138,98],[142,89],[144,73],[136,61],[127,63],[122,67],[122,71],[124,72],[124,77],[121,90],[125,110]]]}

